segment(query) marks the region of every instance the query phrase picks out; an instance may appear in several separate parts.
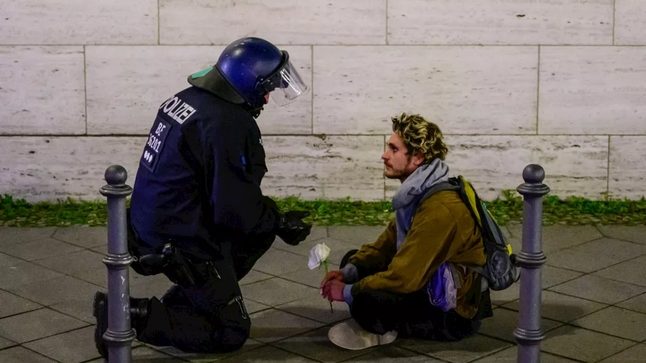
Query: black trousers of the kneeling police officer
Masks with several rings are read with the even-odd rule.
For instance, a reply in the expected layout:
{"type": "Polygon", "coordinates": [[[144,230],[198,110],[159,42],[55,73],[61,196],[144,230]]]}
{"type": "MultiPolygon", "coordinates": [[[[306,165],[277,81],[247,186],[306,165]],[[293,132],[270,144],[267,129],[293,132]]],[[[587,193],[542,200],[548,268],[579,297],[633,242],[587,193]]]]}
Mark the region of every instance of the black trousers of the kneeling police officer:
{"type": "Polygon", "coordinates": [[[270,235],[224,245],[222,256],[204,268],[205,281],[174,285],[161,299],[151,298],[147,323],[137,332],[137,340],[185,352],[218,353],[242,347],[251,320],[238,281],[274,240],[270,235]]]}

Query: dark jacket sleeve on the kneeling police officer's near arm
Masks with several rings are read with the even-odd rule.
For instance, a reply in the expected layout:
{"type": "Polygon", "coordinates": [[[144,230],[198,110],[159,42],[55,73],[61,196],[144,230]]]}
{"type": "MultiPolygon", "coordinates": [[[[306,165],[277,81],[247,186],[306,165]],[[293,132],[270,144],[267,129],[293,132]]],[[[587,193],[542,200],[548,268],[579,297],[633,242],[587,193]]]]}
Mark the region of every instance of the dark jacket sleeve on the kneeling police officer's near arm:
{"type": "Polygon", "coordinates": [[[213,222],[236,233],[273,233],[278,207],[262,194],[256,179],[247,172],[245,141],[240,130],[224,129],[205,141],[213,222]]]}

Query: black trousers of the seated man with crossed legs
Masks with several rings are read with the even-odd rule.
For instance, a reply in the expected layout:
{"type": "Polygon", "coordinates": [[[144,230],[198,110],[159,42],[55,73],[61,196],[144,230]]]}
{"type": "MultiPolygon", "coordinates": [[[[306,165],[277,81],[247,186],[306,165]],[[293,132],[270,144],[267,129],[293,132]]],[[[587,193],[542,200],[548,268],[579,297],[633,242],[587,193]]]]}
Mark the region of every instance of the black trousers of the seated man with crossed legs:
{"type": "MultiPolygon", "coordinates": [[[[340,267],[348,264],[355,253],[357,250],[349,251],[341,260],[340,267]]],[[[432,306],[423,290],[409,294],[361,291],[354,296],[350,315],[371,333],[384,334],[395,330],[398,337],[425,340],[461,340],[476,333],[481,325],[481,322],[464,318],[454,310],[444,312],[432,306]]]]}

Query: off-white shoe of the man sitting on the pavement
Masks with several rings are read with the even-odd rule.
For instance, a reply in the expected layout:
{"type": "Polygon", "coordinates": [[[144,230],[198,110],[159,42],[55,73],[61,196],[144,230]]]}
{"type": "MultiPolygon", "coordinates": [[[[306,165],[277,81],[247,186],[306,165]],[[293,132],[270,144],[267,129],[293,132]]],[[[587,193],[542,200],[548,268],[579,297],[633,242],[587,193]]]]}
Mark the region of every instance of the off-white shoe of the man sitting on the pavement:
{"type": "Polygon", "coordinates": [[[336,346],[359,350],[390,344],[397,338],[397,331],[389,331],[384,335],[370,333],[351,318],[331,327],[328,331],[328,338],[336,346]]]}

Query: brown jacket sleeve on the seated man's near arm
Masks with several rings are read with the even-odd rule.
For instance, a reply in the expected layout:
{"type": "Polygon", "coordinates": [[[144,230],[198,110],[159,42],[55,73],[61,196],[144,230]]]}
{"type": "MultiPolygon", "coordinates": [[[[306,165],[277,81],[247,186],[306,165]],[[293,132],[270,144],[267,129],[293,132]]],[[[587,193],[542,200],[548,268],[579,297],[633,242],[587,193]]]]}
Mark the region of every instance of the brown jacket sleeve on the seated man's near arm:
{"type": "Polygon", "coordinates": [[[422,205],[388,269],[353,284],[351,294],[362,289],[396,293],[421,289],[437,267],[461,247],[453,243],[456,232],[457,222],[446,206],[435,202],[422,205]]]}

